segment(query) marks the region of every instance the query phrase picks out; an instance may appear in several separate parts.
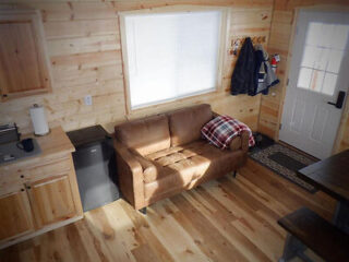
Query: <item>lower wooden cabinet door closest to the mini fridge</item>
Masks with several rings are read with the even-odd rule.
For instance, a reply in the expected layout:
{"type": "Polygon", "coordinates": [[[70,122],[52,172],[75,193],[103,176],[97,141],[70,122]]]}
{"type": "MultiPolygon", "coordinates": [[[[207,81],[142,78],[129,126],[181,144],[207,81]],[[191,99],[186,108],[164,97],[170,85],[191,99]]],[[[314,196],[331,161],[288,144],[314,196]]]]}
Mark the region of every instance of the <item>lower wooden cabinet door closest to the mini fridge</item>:
{"type": "Polygon", "coordinates": [[[37,228],[76,215],[68,175],[32,182],[27,184],[27,192],[37,228]]]}

